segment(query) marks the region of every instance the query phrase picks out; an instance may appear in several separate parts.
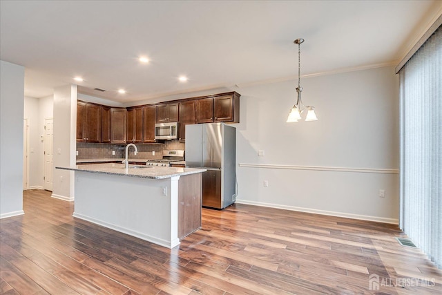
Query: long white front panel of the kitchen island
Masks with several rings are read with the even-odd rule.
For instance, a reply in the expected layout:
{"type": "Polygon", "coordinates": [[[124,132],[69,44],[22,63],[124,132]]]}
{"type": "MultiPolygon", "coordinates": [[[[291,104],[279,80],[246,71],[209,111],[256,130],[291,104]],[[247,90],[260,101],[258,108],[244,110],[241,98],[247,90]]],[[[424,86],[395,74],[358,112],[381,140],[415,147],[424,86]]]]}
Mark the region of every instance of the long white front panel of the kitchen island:
{"type": "Polygon", "coordinates": [[[164,247],[175,247],[180,242],[176,225],[171,224],[172,220],[176,222],[176,216],[171,214],[177,211],[177,189],[172,182],[177,180],[75,171],[73,216],[164,247]]]}

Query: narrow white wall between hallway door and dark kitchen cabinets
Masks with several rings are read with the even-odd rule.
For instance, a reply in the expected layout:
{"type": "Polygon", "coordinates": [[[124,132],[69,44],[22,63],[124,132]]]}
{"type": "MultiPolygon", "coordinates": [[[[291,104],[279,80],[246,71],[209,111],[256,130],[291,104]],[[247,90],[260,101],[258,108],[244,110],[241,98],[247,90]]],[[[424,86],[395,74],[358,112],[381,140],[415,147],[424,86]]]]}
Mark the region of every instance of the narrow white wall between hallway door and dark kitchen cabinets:
{"type": "MultiPolygon", "coordinates": [[[[77,85],[54,89],[54,167],[75,166],[77,85]]],[[[52,197],[74,200],[74,173],[54,169],[52,197]]]]}

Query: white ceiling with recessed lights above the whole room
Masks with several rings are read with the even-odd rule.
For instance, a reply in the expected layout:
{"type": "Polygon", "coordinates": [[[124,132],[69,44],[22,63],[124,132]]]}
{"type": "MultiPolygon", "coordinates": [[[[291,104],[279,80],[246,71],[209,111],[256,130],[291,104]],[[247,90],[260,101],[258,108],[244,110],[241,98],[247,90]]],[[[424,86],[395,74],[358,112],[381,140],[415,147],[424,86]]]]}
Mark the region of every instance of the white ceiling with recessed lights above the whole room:
{"type": "Polygon", "coordinates": [[[25,66],[26,96],[77,83],[125,103],[292,79],[297,38],[301,75],[397,63],[441,9],[437,0],[1,0],[0,59],[25,66]]]}

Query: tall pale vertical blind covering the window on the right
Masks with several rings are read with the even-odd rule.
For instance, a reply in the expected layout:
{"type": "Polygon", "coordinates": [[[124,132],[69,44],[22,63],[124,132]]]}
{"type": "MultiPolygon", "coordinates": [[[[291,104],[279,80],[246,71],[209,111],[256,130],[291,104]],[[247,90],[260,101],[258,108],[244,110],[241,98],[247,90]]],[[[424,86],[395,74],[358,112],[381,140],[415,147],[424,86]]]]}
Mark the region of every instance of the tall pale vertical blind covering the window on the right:
{"type": "Polygon", "coordinates": [[[399,72],[400,227],[442,268],[442,27],[399,72]]]}

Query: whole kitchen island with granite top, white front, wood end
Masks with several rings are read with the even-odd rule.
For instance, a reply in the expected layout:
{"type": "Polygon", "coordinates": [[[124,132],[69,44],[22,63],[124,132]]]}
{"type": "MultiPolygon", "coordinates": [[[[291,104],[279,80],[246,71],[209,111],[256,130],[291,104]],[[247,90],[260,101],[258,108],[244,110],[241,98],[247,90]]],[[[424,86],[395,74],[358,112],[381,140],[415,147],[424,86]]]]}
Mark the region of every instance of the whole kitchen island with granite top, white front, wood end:
{"type": "Polygon", "coordinates": [[[76,218],[169,248],[201,227],[204,169],[115,163],[55,168],[75,171],[76,218]]]}

